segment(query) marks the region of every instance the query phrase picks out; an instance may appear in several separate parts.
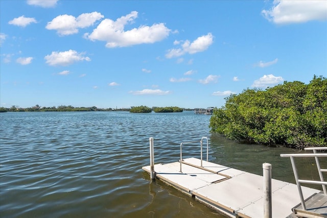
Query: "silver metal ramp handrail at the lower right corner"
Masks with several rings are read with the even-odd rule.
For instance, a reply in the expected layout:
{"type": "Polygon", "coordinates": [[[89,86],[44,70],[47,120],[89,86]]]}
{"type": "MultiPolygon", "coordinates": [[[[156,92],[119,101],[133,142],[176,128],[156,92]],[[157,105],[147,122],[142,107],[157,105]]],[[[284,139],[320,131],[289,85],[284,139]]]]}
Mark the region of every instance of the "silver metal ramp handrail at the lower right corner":
{"type": "Polygon", "coordinates": [[[296,185],[297,185],[297,189],[298,189],[298,193],[299,193],[299,196],[300,196],[301,205],[302,205],[303,210],[307,210],[307,208],[306,208],[305,200],[303,198],[301,183],[322,185],[323,193],[324,193],[324,195],[327,195],[327,191],[326,191],[327,182],[323,181],[323,176],[322,176],[322,172],[327,172],[327,169],[321,169],[320,164],[319,164],[319,160],[318,160],[318,157],[327,157],[327,153],[325,153],[325,154],[317,154],[316,153],[316,151],[318,151],[318,150],[327,150],[327,147],[305,148],[305,150],[313,151],[313,154],[281,154],[281,157],[290,157],[290,159],[291,159],[293,173],[294,173],[294,177],[295,177],[295,182],[296,182],[296,185]],[[294,161],[294,157],[314,157],[315,160],[316,160],[316,165],[317,165],[320,181],[299,179],[298,174],[297,174],[295,161],[294,161]]]}

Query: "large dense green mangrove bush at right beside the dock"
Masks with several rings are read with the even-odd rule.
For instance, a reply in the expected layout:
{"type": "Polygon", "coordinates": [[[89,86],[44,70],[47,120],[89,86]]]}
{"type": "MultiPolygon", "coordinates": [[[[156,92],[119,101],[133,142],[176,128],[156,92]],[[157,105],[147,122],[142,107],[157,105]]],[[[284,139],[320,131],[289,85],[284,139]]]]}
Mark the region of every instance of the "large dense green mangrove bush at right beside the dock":
{"type": "Polygon", "coordinates": [[[245,89],[225,100],[211,117],[212,132],[254,143],[327,146],[327,78],[245,89]]]}

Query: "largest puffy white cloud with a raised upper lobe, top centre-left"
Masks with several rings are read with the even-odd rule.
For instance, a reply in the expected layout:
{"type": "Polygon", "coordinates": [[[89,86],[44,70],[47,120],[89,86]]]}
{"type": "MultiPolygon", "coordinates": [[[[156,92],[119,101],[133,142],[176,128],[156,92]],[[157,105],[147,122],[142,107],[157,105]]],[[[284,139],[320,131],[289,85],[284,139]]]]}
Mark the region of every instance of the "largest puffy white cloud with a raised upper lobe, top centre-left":
{"type": "Polygon", "coordinates": [[[84,37],[94,40],[106,41],[106,47],[126,47],[135,44],[154,43],[165,39],[171,32],[164,23],[155,23],[152,26],[139,26],[131,30],[124,30],[125,25],[134,22],[137,11],[132,11],[115,21],[104,19],[91,34],[84,37]]]}

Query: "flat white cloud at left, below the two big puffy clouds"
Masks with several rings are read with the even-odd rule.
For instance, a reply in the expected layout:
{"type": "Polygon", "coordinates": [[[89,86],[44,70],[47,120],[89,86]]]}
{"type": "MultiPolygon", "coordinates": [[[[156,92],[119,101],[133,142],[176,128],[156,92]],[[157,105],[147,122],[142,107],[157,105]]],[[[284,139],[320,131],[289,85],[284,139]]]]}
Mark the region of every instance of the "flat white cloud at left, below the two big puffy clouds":
{"type": "Polygon", "coordinates": [[[65,52],[52,52],[51,55],[46,55],[44,59],[51,66],[67,66],[77,61],[90,61],[89,57],[83,57],[84,53],[78,53],[74,50],[65,52]]]}

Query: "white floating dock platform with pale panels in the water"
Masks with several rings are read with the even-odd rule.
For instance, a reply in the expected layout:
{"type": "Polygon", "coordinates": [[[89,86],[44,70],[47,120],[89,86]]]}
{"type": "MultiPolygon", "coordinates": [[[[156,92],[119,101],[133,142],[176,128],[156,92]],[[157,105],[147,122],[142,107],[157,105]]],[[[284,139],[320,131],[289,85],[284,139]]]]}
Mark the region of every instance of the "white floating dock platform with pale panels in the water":
{"type": "Polygon", "coordinates": [[[267,196],[263,176],[197,158],[142,168],[150,176],[154,172],[154,178],[229,217],[327,217],[327,196],[317,189],[300,186],[306,203],[303,210],[296,184],[271,179],[271,212],[264,216],[267,196]]]}

